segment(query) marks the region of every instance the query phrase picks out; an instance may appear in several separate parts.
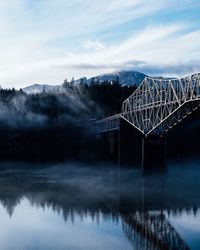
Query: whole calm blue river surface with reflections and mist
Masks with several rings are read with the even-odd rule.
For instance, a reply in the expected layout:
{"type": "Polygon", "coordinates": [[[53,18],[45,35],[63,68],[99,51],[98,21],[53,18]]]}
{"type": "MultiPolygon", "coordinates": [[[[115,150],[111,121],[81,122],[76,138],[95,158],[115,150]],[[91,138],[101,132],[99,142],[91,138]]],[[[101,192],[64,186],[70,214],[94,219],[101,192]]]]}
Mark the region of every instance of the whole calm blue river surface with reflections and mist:
{"type": "Polygon", "coordinates": [[[0,165],[1,250],[200,249],[200,162],[0,165]]]}

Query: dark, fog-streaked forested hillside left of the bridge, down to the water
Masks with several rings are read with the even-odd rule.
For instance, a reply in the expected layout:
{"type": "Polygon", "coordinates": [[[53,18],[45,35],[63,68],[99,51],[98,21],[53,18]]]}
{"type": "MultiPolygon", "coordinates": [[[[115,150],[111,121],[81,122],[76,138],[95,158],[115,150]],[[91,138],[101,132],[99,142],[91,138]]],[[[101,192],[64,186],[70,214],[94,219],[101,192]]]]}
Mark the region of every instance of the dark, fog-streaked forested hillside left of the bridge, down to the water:
{"type": "Polygon", "coordinates": [[[92,122],[120,112],[134,87],[64,83],[59,91],[0,90],[0,159],[95,158],[92,122]]]}

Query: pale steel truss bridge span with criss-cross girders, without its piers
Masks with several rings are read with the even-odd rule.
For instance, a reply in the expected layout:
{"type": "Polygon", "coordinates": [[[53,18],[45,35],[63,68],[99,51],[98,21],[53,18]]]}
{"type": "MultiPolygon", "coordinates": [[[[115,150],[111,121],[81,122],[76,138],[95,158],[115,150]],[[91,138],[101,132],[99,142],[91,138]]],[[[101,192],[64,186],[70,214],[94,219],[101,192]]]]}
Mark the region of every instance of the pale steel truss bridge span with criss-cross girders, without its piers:
{"type": "Polygon", "coordinates": [[[95,123],[101,134],[120,128],[120,119],[144,136],[163,135],[200,106],[200,73],[180,79],[146,77],[122,104],[121,113],[95,123]]]}

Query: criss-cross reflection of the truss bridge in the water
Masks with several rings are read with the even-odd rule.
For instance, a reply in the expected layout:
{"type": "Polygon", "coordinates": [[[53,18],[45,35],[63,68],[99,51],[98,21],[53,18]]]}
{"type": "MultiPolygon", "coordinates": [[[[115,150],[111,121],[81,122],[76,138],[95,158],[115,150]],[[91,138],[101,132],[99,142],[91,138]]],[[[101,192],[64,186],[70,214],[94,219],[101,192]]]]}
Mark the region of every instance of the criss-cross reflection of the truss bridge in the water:
{"type": "Polygon", "coordinates": [[[128,214],[122,216],[123,230],[134,249],[188,250],[189,247],[164,214],[128,214]]]}

